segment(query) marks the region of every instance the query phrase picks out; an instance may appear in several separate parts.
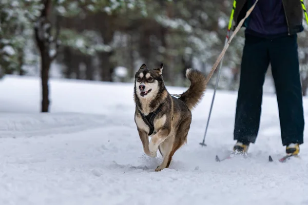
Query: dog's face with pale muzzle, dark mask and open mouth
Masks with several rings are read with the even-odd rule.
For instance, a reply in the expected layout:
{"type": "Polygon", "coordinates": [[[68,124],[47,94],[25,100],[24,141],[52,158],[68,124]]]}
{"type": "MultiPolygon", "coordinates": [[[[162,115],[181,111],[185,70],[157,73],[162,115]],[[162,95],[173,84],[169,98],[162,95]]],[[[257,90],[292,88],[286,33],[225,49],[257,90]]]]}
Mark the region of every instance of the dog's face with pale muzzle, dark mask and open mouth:
{"type": "Polygon", "coordinates": [[[149,69],[143,64],[135,75],[135,91],[139,97],[152,98],[159,91],[163,64],[160,68],[149,69]]]}

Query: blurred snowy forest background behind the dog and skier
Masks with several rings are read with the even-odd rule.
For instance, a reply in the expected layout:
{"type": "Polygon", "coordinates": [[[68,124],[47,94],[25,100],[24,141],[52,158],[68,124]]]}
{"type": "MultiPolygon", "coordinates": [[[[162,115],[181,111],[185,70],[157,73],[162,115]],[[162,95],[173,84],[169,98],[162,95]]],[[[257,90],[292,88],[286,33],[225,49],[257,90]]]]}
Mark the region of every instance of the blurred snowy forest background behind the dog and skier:
{"type": "MultiPolygon", "coordinates": [[[[163,62],[166,84],[187,86],[185,69],[207,74],[223,49],[232,4],[232,0],[2,0],[0,78],[43,76],[43,90],[48,77],[132,82],[143,63],[154,67],[163,62]]],[[[298,43],[306,95],[304,18],[303,23],[298,43]]],[[[219,89],[238,88],[243,31],[225,54],[219,89]]],[[[271,77],[268,69],[267,79],[271,77]]],[[[43,91],[44,98],[48,110],[48,91],[43,91]]]]}

